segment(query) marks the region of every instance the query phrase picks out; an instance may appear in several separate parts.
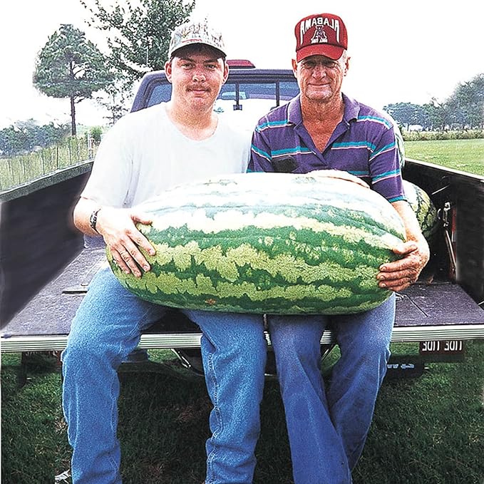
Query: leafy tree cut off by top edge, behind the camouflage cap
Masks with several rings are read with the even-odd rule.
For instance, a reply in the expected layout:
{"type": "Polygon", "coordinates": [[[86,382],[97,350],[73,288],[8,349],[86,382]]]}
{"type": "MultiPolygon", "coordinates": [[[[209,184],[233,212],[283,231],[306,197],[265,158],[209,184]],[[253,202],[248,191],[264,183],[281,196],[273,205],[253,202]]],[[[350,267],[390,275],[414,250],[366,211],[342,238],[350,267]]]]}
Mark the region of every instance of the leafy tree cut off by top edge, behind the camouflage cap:
{"type": "MultiPolygon", "coordinates": [[[[139,0],[106,7],[103,0],[80,0],[91,12],[88,25],[105,32],[110,66],[126,81],[124,89],[148,71],[163,69],[171,32],[195,7],[195,0],[139,0]]],[[[111,5],[109,3],[109,5],[111,5]]]]}

